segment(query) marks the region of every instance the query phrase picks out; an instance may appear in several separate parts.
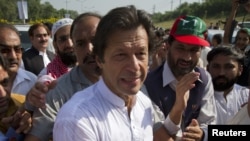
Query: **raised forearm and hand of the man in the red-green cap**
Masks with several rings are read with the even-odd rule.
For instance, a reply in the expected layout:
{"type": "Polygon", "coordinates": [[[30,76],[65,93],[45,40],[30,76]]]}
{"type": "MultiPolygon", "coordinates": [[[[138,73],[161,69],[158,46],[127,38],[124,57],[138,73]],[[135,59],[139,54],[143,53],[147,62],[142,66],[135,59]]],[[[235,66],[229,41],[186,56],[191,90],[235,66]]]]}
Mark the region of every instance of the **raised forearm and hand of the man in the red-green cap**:
{"type": "Polygon", "coordinates": [[[164,125],[154,132],[154,141],[172,141],[175,140],[177,132],[180,130],[182,113],[187,106],[189,90],[193,88],[194,82],[199,78],[199,74],[192,72],[185,75],[177,84],[176,101],[164,125]]]}

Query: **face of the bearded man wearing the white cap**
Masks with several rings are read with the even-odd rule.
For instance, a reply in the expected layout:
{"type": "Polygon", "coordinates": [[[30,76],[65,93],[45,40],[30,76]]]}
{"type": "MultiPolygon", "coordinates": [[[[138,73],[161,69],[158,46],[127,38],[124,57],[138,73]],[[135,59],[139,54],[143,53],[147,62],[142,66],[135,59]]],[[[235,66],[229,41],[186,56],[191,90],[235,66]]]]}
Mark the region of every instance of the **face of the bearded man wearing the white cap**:
{"type": "Polygon", "coordinates": [[[74,66],[77,60],[70,38],[70,27],[71,25],[64,26],[56,32],[56,40],[54,40],[53,45],[62,62],[67,66],[74,66]]]}

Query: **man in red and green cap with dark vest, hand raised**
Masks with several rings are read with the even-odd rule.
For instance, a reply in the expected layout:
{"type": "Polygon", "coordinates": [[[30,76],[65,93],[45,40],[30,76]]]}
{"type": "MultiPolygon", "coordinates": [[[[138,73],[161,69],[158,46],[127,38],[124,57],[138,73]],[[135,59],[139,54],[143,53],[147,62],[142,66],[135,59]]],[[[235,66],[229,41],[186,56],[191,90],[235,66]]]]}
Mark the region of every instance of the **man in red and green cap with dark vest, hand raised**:
{"type": "Polygon", "coordinates": [[[216,122],[211,76],[197,67],[202,48],[209,46],[206,31],[198,17],[176,19],[165,63],[145,81],[150,98],[165,115],[164,126],[183,140],[207,140],[207,125],[216,122]]]}

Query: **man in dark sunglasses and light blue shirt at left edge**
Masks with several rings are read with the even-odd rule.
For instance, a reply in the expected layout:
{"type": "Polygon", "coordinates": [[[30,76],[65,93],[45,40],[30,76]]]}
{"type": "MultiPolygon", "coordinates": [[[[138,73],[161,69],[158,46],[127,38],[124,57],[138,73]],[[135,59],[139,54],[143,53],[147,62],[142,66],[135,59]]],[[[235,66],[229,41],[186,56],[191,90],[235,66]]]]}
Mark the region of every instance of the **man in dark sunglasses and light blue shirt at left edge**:
{"type": "Polygon", "coordinates": [[[10,64],[8,87],[11,92],[26,95],[37,81],[37,76],[20,67],[22,62],[20,36],[11,24],[0,23],[0,53],[10,64]]]}

